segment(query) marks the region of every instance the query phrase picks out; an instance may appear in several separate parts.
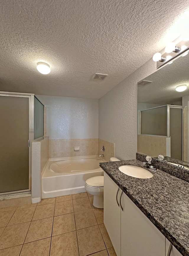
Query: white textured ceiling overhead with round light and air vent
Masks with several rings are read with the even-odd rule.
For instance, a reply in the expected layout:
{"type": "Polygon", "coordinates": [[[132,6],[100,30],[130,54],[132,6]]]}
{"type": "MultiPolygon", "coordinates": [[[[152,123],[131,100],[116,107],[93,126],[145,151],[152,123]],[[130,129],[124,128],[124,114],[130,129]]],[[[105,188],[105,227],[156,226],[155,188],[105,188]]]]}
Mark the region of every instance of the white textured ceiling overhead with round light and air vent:
{"type": "Polygon", "coordinates": [[[1,0],[0,90],[100,98],[179,36],[189,1],[1,0]],[[174,33],[172,33],[172,32],[174,33]],[[48,63],[48,75],[36,64],[48,63]],[[105,81],[92,80],[105,73],[105,81]]]}

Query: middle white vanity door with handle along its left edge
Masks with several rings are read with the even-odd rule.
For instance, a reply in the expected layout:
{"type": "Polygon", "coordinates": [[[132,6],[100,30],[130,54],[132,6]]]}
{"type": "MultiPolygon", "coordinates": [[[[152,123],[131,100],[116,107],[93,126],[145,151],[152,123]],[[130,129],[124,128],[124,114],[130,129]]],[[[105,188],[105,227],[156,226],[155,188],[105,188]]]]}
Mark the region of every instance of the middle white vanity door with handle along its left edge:
{"type": "Polygon", "coordinates": [[[125,193],[121,204],[121,255],[165,256],[164,235],[125,193]]]}

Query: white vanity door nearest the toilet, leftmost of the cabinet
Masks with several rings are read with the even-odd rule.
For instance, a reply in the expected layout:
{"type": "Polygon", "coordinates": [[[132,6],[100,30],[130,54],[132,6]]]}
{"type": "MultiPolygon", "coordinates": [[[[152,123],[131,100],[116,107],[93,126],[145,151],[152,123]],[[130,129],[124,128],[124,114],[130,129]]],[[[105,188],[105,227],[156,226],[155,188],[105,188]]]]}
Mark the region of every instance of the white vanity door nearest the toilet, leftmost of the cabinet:
{"type": "MultiPolygon", "coordinates": [[[[117,256],[120,256],[121,247],[121,231],[120,231],[120,207],[116,201],[116,194],[118,191],[118,185],[104,173],[104,225],[107,229],[107,233],[110,236],[113,247],[117,256]]],[[[120,198],[119,189],[118,202],[120,198]]]]}

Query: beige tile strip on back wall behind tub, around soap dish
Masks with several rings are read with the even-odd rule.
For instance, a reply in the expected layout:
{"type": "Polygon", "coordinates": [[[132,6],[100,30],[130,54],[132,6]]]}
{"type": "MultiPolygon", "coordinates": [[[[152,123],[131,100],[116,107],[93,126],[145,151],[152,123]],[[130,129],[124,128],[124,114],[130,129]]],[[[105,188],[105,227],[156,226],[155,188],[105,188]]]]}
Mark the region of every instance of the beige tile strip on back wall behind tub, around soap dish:
{"type": "Polygon", "coordinates": [[[92,156],[98,154],[98,139],[49,140],[49,158],[92,156]],[[79,146],[79,151],[74,151],[79,146]]]}

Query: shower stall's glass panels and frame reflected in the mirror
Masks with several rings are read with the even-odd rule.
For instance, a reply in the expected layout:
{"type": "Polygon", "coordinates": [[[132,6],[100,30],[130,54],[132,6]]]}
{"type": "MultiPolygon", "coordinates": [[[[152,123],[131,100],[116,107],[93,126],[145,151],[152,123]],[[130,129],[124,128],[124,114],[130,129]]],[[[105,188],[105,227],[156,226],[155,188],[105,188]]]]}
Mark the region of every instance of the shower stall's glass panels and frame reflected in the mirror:
{"type": "Polygon", "coordinates": [[[170,137],[171,157],[183,160],[183,107],[163,105],[140,111],[141,135],[170,137]]]}

